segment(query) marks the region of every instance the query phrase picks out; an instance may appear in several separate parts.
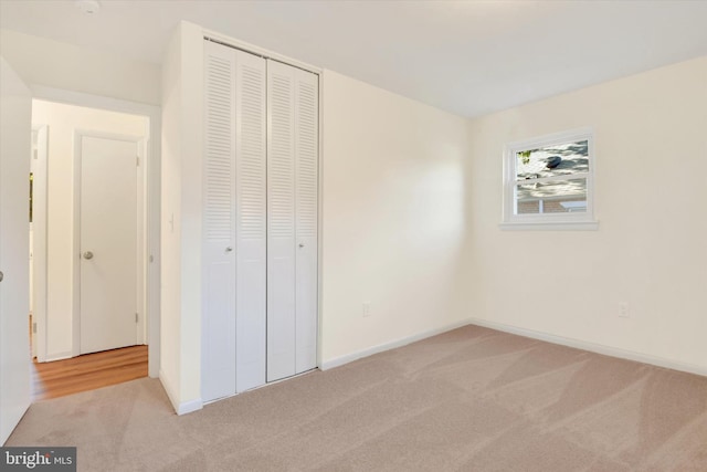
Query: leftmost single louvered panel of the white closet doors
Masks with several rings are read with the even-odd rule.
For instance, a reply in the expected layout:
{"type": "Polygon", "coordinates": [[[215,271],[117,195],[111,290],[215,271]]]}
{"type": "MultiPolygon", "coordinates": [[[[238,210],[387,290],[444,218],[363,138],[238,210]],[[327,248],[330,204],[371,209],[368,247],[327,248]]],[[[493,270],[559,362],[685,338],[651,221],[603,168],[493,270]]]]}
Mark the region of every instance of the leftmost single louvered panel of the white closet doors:
{"type": "Polygon", "coordinates": [[[204,42],[204,62],[201,395],[210,401],[235,394],[235,54],[204,42]]]}

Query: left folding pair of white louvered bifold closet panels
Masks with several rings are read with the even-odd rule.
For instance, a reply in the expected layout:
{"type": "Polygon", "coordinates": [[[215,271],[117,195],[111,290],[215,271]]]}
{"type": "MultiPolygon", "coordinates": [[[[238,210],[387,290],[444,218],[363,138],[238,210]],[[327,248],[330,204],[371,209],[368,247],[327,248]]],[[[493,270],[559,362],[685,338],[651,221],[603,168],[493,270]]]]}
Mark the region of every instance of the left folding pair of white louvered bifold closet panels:
{"type": "Polygon", "coordinates": [[[265,66],[204,41],[204,401],[266,381],[265,66]]]}

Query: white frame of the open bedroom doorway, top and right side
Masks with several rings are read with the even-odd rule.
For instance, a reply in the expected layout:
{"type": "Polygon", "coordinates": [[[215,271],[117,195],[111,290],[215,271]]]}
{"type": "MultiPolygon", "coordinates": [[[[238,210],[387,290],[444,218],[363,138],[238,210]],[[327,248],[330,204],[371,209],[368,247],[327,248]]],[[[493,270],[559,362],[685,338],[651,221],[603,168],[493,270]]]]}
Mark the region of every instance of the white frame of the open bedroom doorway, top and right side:
{"type": "MultiPolygon", "coordinates": [[[[161,108],[119,98],[72,92],[43,85],[30,84],[32,98],[46,102],[85,106],[109,112],[145,116],[149,120],[149,133],[145,146],[145,321],[147,324],[148,373],[159,377],[160,367],[160,227],[161,227],[161,108]]],[[[46,326],[46,319],[42,321],[46,326]]],[[[46,345],[46,331],[40,334],[40,343],[46,345]]]]}

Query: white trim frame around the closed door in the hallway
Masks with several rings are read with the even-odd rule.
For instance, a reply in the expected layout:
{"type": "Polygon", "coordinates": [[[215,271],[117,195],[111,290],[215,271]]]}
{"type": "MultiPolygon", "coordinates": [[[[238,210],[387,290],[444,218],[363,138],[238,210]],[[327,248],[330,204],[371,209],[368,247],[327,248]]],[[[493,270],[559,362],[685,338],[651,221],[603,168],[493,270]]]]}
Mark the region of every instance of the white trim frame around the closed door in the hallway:
{"type": "MultiPolygon", "coordinates": [[[[133,136],[133,135],[122,135],[115,133],[105,133],[105,132],[95,132],[92,129],[75,129],[74,130],[74,207],[73,207],[73,295],[72,295],[72,356],[80,356],[81,353],[81,222],[82,222],[82,207],[81,207],[81,197],[82,197],[82,139],[83,138],[101,138],[101,139],[112,139],[119,140],[125,143],[133,143],[137,148],[137,158],[139,159],[139,165],[136,165],[136,178],[137,181],[137,216],[136,216],[136,227],[137,227],[137,251],[136,251],[136,260],[137,260],[137,273],[136,275],[136,310],[139,312],[140,317],[137,323],[137,333],[136,333],[136,345],[145,344],[147,342],[147,323],[146,316],[147,306],[145,305],[145,300],[147,298],[146,292],[147,287],[145,281],[147,280],[147,264],[146,264],[146,254],[145,248],[147,247],[147,233],[145,231],[145,217],[146,217],[146,198],[145,198],[145,189],[146,189],[146,167],[145,166],[145,156],[147,151],[147,136],[133,136]]],[[[148,355],[149,358],[149,355],[148,355]]]]}

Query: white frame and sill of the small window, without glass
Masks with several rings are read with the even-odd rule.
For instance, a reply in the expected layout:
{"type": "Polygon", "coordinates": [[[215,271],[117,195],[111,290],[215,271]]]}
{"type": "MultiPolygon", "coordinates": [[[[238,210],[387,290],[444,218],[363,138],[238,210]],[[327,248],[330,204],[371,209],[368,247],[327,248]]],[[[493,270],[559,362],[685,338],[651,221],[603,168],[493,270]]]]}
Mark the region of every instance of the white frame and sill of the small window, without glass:
{"type": "Polygon", "coordinates": [[[508,143],[504,146],[503,175],[503,222],[504,230],[597,230],[599,222],[594,218],[594,170],[597,151],[594,132],[590,127],[577,128],[529,139],[508,143]],[[587,211],[563,213],[524,213],[518,214],[516,186],[517,154],[529,149],[539,149],[555,145],[587,140],[588,170],[578,175],[545,177],[539,181],[564,181],[577,178],[587,179],[587,211]]]}

